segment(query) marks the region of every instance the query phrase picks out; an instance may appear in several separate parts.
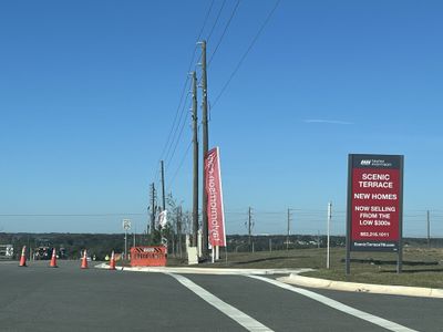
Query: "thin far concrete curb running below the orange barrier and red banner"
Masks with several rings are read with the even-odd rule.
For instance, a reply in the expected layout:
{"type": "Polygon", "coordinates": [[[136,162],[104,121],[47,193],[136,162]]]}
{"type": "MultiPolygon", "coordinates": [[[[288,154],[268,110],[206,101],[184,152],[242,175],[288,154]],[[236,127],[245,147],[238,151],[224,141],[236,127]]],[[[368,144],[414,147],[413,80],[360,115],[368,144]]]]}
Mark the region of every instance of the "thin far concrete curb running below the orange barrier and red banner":
{"type": "MultiPolygon", "coordinates": [[[[97,269],[109,269],[110,266],[101,263],[95,266],[97,269]]],[[[175,268],[175,267],[116,267],[117,270],[132,272],[152,272],[152,273],[181,273],[181,274],[217,274],[217,276],[272,276],[289,274],[312,271],[312,269],[224,269],[224,268],[175,268]]]]}

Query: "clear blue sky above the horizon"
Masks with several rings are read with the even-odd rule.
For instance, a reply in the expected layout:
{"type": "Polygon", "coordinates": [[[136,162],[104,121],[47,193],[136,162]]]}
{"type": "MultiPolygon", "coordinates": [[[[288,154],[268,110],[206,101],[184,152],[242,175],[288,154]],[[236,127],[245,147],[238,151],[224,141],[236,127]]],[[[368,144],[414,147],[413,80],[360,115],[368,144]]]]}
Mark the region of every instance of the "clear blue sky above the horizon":
{"type": "MultiPolygon", "coordinates": [[[[0,231],[119,232],[125,214],[141,229],[161,158],[190,208],[179,102],[210,3],[0,3],[0,231]],[[112,216],[17,216],[93,214],[112,216]]],[[[203,29],[208,59],[237,6],[223,3],[203,29]]],[[[281,0],[216,101],[275,4],[240,1],[208,68],[227,232],[246,231],[248,206],[256,234],[284,234],[288,207],[302,209],[293,232],[323,232],[331,200],[343,234],[347,156],[374,153],[405,156],[405,235],[425,235],[431,209],[443,236],[442,2],[281,0]]]]}

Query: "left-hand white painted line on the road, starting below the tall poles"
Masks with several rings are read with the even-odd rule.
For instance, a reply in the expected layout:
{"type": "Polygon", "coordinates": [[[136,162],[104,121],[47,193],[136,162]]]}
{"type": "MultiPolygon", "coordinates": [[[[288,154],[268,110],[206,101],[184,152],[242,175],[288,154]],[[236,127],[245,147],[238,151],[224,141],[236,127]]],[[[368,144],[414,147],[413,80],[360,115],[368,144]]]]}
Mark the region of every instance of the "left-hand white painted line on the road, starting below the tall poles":
{"type": "Polygon", "coordinates": [[[203,300],[208,302],[210,305],[215,307],[224,314],[226,314],[227,317],[239,323],[246,330],[253,332],[268,332],[268,331],[272,332],[272,330],[269,329],[268,326],[265,326],[260,322],[256,321],[251,317],[238,310],[237,308],[234,308],[233,305],[222,301],[220,299],[213,295],[207,290],[194,283],[189,279],[181,274],[174,274],[174,273],[166,273],[166,274],[169,274],[171,277],[177,279],[179,283],[182,283],[183,286],[192,290],[194,293],[196,293],[198,297],[200,297],[203,300]]]}

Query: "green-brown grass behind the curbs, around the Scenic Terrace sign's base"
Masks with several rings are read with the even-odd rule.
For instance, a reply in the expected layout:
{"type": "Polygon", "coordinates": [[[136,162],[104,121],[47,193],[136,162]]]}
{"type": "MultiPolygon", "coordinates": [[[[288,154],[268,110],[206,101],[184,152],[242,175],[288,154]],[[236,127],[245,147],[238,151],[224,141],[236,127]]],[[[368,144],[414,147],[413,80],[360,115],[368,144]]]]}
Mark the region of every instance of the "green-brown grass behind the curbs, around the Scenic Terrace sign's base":
{"type": "MultiPolygon", "coordinates": [[[[302,276],[339,281],[399,284],[443,289],[443,249],[404,248],[403,271],[396,273],[396,255],[387,252],[352,252],[351,273],[344,274],[343,248],[331,248],[330,269],[326,269],[326,249],[291,249],[289,251],[220,252],[222,260],[205,262],[207,268],[312,268],[302,276]]],[[[186,264],[184,259],[168,258],[168,266],[186,264]]]]}

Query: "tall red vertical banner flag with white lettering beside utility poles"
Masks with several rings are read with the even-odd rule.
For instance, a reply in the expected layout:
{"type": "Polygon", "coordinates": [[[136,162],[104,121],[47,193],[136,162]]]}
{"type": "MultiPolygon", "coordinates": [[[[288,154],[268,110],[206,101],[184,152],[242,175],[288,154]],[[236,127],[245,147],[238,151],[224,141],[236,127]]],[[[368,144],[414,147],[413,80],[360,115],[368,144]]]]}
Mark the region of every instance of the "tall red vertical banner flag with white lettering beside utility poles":
{"type": "Polygon", "coordinates": [[[206,194],[208,197],[208,232],[213,247],[226,247],[225,212],[223,208],[223,190],[219,149],[215,147],[205,156],[206,194]]]}

